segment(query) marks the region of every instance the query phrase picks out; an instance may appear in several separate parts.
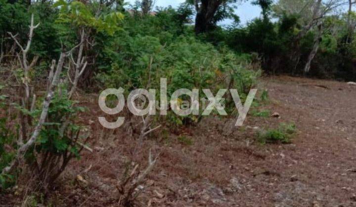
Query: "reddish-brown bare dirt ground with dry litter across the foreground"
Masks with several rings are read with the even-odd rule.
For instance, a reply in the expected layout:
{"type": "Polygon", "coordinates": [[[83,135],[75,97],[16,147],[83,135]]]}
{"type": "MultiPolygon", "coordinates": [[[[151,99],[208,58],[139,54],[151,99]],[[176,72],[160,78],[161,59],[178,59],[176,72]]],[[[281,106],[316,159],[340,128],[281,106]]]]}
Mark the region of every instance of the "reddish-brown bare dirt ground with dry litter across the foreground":
{"type": "MultiPolygon", "coordinates": [[[[94,152],[70,164],[51,204],[117,206],[115,186],[125,163],[131,160],[144,169],[151,148],[160,156],[138,199],[142,206],[356,206],[356,86],[279,76],[266,78],[261,87],[268,89],[270,103],[260,108],[278,112],[280,118],[249,115],[244,127],[228,137],[222,135],[223,119],[203,119],[175,133],[157,131],[137,155],[134,138],[120,130],[102,130],[96,123],[100,112],[93,97],[83,122],[95,132],[94,152]],[[254,141],[256,129],[282,122],[297,126],[291,144],[254,141]],[[85,183],[77,181],[78,174],[85,183]]],[[[0,206],[10,200],[15,199],[0,199],[0,206]]]]}

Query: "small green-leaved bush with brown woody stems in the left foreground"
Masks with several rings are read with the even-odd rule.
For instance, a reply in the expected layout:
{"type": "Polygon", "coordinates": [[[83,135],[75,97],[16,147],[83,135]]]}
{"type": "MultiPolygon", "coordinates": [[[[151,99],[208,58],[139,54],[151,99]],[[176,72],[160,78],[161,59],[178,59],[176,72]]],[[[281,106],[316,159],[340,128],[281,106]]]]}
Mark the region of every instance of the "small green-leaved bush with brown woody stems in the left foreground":
{"type": "Polygon", "coordinates": [[[38,166],[38,176],[45,185],[51,185],[68,162],[72,158],[80,158],[81,150],[86,147],[88,131],[74,122],[84,108],[75,104],[68,99],[65,88],[56,92],[49,105],[48,122],[34,147],[36,153],[27,154],[28,162],[38,166]]]}

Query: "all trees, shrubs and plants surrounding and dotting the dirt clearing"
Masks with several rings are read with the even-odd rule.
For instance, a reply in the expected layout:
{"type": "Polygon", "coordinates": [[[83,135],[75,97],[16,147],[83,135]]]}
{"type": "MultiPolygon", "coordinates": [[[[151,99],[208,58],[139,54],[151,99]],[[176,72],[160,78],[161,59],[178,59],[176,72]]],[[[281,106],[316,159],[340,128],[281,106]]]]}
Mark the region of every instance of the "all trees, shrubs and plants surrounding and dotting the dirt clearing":
{"type": "MultiPolygon", "coordinates": [[[[262,16],[246,26],[234,14],[238,2],[187,0],[178,8],[152,12],[152,0],[134,5],[123,0],[0,0],[0,189],[33,173],[33,183],[40,183],[36,190],[46,195],[68,163],[90,149],[90,130],[77,120],[85,110],[77,101],[78,89],[98,93],[122,87],[127,95],[138,88],[159,89],[164,77],[168,97],[180,88],[198,89],[199,98],[205,98],[202,89],[216,94],[226,88],[237,89],[244,102],[264,72],[356,78],[356,15],[352,9],[333,12],[355,2],[252,0],[262,16]],[[226,18],[234,23],[219,26],[226,18]]],[[[223,98],[226,111],[235,115],[232,97],[223,98]]],[[[268,101],[267,91],[260,99],[268,101]]],[[[180,107],[190,99],[175,101],[180,107]]],[[[162,126],[168,134],[198,123],[201,113],[178,116],[170,108],[165,117],[130,116],[125,127],[140,147],[155,129],[162,126]]],[[[268,117],[270,111],[250,114],[268,117]]],[[[282,124],[260,132],[258,140],[289,143],[295,132],[293,124],[282,124]]],[[[177,139],[194,144],[188,136],[177,139]]],[[[147,172],[138,172],[135,165],[132,174],[123,176],[120,204],[135,203],[140,193],[135,188],[157,160],[149,156],[147,172]]]]}

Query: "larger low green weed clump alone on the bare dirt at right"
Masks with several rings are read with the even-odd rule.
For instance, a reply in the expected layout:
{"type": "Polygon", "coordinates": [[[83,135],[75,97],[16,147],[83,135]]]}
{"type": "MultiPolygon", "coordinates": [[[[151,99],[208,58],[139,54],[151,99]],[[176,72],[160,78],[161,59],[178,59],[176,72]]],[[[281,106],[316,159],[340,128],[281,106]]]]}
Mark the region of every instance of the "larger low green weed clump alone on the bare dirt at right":
{"type": "Polygon", "coordinates": [[[257,134],[257,140],[262,143],[290,143],[297,129],[295,124],[281,123],[277,129],[268,129],[260,131],[257,134]]]}

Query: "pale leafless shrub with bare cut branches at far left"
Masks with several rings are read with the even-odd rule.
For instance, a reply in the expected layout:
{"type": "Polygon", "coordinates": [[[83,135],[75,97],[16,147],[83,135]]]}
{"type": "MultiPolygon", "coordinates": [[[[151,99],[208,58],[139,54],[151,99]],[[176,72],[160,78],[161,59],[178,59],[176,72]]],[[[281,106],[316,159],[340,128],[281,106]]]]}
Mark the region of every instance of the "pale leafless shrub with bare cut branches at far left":
{"type": "MultiPolygon", "coordinates": [[[[60,126],[55,128],[55,130],[58,131],[60,138],[63,138],[64,136],[69,138],[69,146],[66,146],[67,148],[63,153],[52,153],[50,151],[45,153],[37,153],[34,150],[33,154],[35,159],[31,163],[33,168],[32,172],[34,173],[33,177],[40,180],[42,182],[42,186],[47,189],[47,187],[50,186],[53,181],[64,171],[65,167],[68,165],[68,162],[73,157],[75,157],[78,152],[83,149],[88,149],[85,144],[89,139],[89,135],[83,137],[82,130],[73,130],[69,127],[70,124],[73,123],[73,120],[71,120],[72,117],[70,115],[63,115],[63,117],[59,118],[60,120],[50,120],[50,117],[48,117],[49,106],[53,97],[55,96],[55,92],[57,91],[57,93],[61,96],[62,89],[59,85],[65,82],[65,80],[60,79],[64,65],[69,63],[69,67],[67,68],[67,79],[71,83],[71,88],[69,89],[67,99],[70,100],[77,89],[78,80],[85,71],[88,62],[86,61],[86,56],[83,55],[83,47],[86,34],[85,31],[82,30],[80,43],[67,52],[62,51],[58,62],[55,60],[52,61],[47,79],[48,83],[46,96],[40,110],[40,117],[37,119],[36,117],[31,116],[30,114],[36,110],[37,97],[34,86],[31,83],[31,79],[29,78],[29,72],[36,65],[39,57],[36,56],[31,61],[29,61],[27,54],[31,47],[34,30],[37,29],[38,26],[39,24],[34,25],[34,16],[32,15],[31,25],[29,26],[30,32],[26,46],[22,46],[19,43],[17,40],[17,35],[9,33],[16,45],[20,48],[20,53],[17,54],[17,60],[20,68],[23,70],[23,78],[20,82],[22,90],[19,90],[20,106],[22,110],[19,113],[20,117],[18,119],[20,133],[17,140],[19,146],[17,154],[9,166],[2,170],[2,174],[12,173],[14,169],[19,167],[19,165],[22,163],[25,153],[29,150],[33,150],[33,146],[35,146],[35,143],[37,142],[41,131],[44,129],[44,124],[46,122],[56,122],[59,123],[60,126]],[[76,61],[74,61],[73,54],[77,55],[76,61]],[[72,77],[71,73],[74,73],[74,77],[72,77]],[[34,125],[34,123],[36,124],[34,125]],[[79,138],[85,139],[85,143],[79,142],[79,138]],[[72,150],[74,147],[78,146],[78,151],[72,150]]],[[[73,105],[70,107],[73,107],[73,105]]]]}

